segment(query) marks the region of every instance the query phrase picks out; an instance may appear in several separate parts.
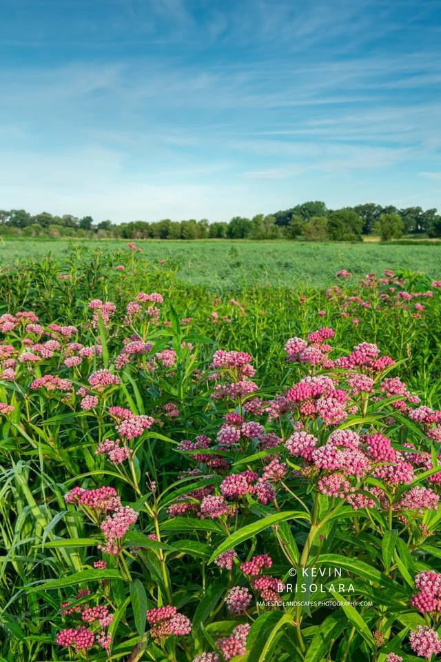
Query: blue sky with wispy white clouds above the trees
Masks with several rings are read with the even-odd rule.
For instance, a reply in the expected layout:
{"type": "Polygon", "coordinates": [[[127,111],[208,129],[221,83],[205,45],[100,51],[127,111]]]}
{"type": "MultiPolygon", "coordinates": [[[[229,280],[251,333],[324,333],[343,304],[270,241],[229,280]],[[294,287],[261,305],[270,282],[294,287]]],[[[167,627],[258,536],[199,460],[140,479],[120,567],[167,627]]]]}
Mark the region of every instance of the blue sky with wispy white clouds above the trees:
{"type": "Polygon", "coordinates": [[[0,208],[441,208],[439,0],[0,0],[0,208]]]}

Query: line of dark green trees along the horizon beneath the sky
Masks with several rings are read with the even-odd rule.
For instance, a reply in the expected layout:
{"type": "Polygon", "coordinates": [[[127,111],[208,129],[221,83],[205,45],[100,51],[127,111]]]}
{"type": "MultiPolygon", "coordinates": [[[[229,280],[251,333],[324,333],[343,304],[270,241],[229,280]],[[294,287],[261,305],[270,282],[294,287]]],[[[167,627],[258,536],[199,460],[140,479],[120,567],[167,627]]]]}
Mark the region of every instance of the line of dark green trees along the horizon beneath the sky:
{"type": "Polygon", "coordinates": [[[306,241],[362,241],[373,234],[382,241],[403,235],[441,237],[441,216],[436,209],[398,209],[365,203],[331,210],[322,201],[309,201],[273,214],[229,221],[130,221],[95,223],[91,216],[57,216],[48,212],[0,210],[0,234],[25,237],[98,237],[115,239],[303,239],[306,241]]]}

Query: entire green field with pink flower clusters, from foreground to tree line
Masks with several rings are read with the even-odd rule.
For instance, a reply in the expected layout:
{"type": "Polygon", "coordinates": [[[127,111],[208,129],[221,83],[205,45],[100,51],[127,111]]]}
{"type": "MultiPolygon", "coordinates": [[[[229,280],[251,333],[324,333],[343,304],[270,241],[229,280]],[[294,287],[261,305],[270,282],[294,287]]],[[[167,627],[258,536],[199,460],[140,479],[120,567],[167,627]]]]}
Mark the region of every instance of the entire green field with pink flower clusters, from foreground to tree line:
{"type": "Polygon", "coordinates": [[[440,249],[139,245],[0,249],[0,662],[418,660],[440,249]]]}

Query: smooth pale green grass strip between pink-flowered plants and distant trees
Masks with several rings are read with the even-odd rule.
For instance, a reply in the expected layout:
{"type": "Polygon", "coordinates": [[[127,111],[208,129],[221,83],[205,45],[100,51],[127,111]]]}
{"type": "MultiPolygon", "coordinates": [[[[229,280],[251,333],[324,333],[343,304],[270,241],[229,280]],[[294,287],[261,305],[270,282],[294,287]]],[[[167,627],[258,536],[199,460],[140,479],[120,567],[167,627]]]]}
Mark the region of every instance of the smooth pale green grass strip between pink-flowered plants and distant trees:
{"type": "MultiPolygon", "coordinates": [[[[298,283],[327,286],[339,269],[355,277],[384,269],[424,271],[439,277],[441,247],[380,243],[298,243],[290,241],[138,241],[143,257],[153,263],[163,259],[185,283],[207,285],[211,290],[240,290],[246,285],[298,283]]],[[[51,254],[65,261],[72,250],[84,255],[99,248],[104,253],[127,250],[118,240],[5,239],[0,242],[0,264],[40,259],[51,254]]]]}

